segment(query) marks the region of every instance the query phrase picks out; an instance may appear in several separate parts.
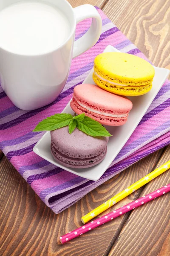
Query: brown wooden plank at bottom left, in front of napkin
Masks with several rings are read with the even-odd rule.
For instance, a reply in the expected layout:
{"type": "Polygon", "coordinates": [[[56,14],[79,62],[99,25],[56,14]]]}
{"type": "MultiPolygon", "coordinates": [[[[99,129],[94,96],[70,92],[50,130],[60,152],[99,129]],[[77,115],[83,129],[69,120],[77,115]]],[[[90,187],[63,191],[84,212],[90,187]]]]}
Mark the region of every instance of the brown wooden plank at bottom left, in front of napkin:
{"type": "MultiPolygon", "coordinates": [[[[69,209],[55,215],[35,195],[6,157],[0,162],[0,251],[1,255],[103,256],[125,217],[103,225],[81,237],[60,245],[59,237],[82,226],[80,217],[99,206],[131,183],[154,169],[163,149],[130,166],[102,184],[69,209]]],[[[138,197],[129,195],[116,207],[138,197]]],[[[109,209],[107,212],[113,210],[109,209]]]]}

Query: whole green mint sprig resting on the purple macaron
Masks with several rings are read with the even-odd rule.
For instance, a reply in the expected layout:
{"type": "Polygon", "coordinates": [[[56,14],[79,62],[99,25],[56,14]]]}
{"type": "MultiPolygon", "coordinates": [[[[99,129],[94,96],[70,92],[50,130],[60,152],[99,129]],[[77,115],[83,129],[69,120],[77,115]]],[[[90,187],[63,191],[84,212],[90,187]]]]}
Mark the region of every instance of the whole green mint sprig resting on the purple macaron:
{"type": "Polygon", "coordinates": [[[66,113],[55,114],[42,120],[34,131],[53,131],[64,126],[68,126],[69,134],[72,134],[77,127],[80,131],[93,137],[112,136],[104,126],[94,119],[85,116],[85,113],[78,116],[72,116],[66,113]]]}

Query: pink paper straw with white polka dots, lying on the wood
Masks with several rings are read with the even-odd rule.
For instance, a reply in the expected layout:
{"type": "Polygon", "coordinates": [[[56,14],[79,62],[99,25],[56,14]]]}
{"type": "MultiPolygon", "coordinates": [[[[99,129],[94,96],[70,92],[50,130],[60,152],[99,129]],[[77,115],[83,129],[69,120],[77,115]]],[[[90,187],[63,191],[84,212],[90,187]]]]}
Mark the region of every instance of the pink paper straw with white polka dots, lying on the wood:
{"type": "Polygon", "coordinates": [[[99,227],[100,225],[109,222],[113,220],[114,218],[131,211],[132,209],[135,209],[136,207],[141,206],[142,204],[145,204],[161,195],[164,195],[165,193],[170,192],[170,184],[163,186],[161,189],[157,189],[150,194],[143,196],[142,198],[137,199],[136,201],[131,202],[130,204],[126,204],[124,207],[120,207],[119,209],[114,210],[113,212],[110,212],[101,218],[97,218],[94,221],[91,221],[88,224],[85,224],[82,227],[77,228],[76,230],[71,231],[70,233],[61,236],[60,241],[62,244],[65,244],[67,241],[70,241],[77,236],[80,236],[95,227],[99,227]]]}

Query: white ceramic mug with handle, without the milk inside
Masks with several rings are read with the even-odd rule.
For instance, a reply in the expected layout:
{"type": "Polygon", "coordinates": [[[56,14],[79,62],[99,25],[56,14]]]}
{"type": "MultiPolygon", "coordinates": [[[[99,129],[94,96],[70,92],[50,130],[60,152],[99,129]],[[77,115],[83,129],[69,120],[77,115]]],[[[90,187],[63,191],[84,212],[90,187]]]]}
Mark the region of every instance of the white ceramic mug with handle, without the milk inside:
{"type": "MultiPolygon", "coordinates": [[[[66,0],[39,1],[64,12],[71,31],[62,46],[42,55],[19,55],[0,48],[1,86],[14,105],[27,111],[48,105],[59,96],[68,79],[72,58],[94,46],[102,30],[102,19],[94,6],[73,9],[66,0]],[[76,24],[87,18],[93,18],[90,29],[74,42],[76,24]]],[[[0,0],[0,10],[17,2],[0,0]]]]}

